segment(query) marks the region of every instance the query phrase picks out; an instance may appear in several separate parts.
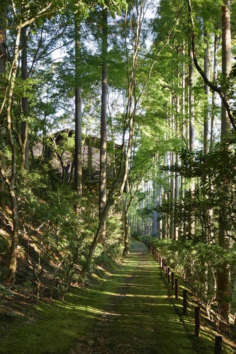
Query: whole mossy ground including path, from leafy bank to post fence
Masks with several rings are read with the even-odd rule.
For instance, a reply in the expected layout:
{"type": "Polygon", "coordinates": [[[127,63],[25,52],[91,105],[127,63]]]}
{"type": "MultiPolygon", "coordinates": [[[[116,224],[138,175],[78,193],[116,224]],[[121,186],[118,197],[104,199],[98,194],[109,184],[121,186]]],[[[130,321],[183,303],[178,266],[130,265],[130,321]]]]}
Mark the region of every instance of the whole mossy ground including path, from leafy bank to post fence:
{"type": "Polygon", "coordinates": [[[136,240],[115,271],[90,288],[73,288],[64,302],[42,301],[35,311],[31,320],[1,323],[1,354],[214,353],[212,329],[194,336],[193,311],[182,315],[182,299],[174,299],[152,254],[136,240]]]}

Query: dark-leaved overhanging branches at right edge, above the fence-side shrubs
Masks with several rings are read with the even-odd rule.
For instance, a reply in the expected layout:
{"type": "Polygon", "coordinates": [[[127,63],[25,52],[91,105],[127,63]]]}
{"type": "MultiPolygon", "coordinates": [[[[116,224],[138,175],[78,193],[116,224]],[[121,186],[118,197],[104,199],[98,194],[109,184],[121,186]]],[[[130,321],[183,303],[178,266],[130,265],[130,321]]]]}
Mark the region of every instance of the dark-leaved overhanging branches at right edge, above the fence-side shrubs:
{"type": "MultiPolygon", "coordinates": [[[[217,223],[220,216],[224,219],[226,230],[231,232],[233,239],[235,237],[235,190],[231,187],[236,183],[234,171],[236,164],[235,139],[235,133],[232,133],[223,142],[216,144],[214,150],[206,155],[202,150],[191,153],[184,149],[180,152],[181,166],[160,166],[163,172],[177,172],[188,179],[199,179],[199,187],[194,192],[186,192],[181,202],[175,201],[174,211],[175,223],[183,225],[185,231],[188,229],[187,226],[191,220],[197,223],[196,239],[205,239],[206,230],[202,226],[207,222],[206,215],[212,208],[214,208],[214,217],[207,223],[211,241],[215,243],[218,237],[217,223]],[[226,197],[228,205],[222,210],[221,207],[225,203],[226,197]]],[[[148,215],[153,210],[162,213],[162,217],[173,213],[171,201],[166,201],[154,209],[147,208],[143,213],[148,215]]],[[[190,237],[190,235],[185,232],[180,237],[190,237]]]]}

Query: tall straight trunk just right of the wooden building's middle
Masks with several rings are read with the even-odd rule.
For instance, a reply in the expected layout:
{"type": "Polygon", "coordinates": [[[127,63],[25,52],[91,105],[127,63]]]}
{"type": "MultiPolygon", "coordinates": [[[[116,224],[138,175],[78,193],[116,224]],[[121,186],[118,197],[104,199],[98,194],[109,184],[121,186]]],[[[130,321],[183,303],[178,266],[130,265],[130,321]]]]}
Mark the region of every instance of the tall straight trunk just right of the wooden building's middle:
{"type": "MultiPolygon", "coordinates": [[[[103,9],[102,37],[102,107],[100,135],[100,181],[99,181],[99,218],[104,211],[107,199],[107,104],[108,104],[108,11],[103,9]]],[[[106,223],[104,224],[100,241],[106,248],[106,223]]]]}

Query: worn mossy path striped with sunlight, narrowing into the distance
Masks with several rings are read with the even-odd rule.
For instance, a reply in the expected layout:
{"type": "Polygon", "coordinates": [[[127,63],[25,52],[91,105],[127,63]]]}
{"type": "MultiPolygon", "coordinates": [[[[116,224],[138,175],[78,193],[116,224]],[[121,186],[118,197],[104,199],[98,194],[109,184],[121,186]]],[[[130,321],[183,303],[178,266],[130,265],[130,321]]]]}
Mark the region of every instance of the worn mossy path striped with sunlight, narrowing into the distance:
{"type": "Polygon", "coordinates": [[[109,284],[106,311],[70,354],[196,353],[144,244],[132,240],[109,284]]]}

